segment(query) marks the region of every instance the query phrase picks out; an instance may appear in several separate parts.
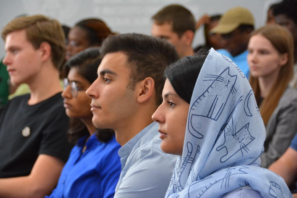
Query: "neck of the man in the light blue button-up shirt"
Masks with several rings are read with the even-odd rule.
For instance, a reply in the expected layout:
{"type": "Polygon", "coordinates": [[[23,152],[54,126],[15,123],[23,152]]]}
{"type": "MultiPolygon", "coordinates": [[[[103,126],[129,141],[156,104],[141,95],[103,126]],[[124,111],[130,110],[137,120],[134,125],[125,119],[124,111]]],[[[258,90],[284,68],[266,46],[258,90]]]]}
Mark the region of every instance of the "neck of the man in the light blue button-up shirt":
{"type": "Polygon", "coordinates": [[[116,141],[121,145],[125,145],[141,130],[153,122],[151,116],[157,108],[139,108],[134,115],[121,121],[118,126],[114,127],[116,141]]]}

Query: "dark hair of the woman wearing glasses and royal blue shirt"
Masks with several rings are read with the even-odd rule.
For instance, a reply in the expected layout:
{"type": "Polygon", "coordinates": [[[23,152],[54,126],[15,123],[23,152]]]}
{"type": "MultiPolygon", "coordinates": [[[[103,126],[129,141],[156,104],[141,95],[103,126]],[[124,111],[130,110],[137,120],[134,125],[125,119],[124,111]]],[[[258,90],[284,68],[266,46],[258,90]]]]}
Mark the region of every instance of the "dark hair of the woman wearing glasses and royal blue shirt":
{"type": "MultiPolygon", "coordinates": [[[[99,49],[99,47],[90,47],[72,56],[64,64],[62,77],[67,77],[69,70],[76,67],[78,73],[92,84],[98,77],[97,68],[102,60],[99,49]]],[[[76,144],[80,137],[89,135],[89,131],[80,119],[70,118],[67,135],[69,142],[76,144]]],[[[97,129],[96,131],[96,136],[101,142],[107,142],[113,135],[114,131],[112,129],[97,129]]]]}

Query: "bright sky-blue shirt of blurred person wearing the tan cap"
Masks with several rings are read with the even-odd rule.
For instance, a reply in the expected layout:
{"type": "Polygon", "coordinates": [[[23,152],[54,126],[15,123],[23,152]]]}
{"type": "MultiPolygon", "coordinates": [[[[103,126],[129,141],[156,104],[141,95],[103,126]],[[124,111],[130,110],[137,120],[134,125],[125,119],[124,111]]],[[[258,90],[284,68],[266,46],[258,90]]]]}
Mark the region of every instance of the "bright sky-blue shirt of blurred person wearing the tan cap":
{"type": "Polygon", "coordinates": [[[249,54],[248,50],[245,50],[244,52],[242,52],[241,54],[238,54],[237,56],[232,56],[230,52],[228,52],[225,49],[219,49],[216,51],[218,53],[221,53],[222,55],[229,57],[244,73],[247,79],[249,79],[249,64],[247,63],[247,55],[249,54]]]}

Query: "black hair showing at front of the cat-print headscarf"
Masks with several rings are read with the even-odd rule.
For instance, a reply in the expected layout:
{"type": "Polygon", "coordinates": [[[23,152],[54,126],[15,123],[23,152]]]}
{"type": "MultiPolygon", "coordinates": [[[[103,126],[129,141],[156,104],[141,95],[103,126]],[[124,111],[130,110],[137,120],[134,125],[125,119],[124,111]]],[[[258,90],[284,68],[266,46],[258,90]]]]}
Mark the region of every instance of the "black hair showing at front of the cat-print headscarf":
{"type": "Polygon", "coordinates": [[[164,78],[168,79],[174,91],[188,104],[191,102],[200,70],[208,55],[208,47],[201,48],[193,56],[185,56],[166,67],[164,78]]]}

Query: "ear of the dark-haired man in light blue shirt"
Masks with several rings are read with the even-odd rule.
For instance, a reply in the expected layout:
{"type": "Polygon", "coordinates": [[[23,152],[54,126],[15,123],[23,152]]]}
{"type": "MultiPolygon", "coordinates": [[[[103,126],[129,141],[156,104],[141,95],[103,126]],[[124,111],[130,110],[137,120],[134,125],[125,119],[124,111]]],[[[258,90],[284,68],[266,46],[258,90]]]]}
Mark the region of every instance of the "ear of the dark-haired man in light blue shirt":
{"type": "Polygon", "coordinates": [[[137,90],[137,102],[146,102],[155,93],[155,81],[151,77],[146,77],[136,84],[135,89],[137,90]]]}

